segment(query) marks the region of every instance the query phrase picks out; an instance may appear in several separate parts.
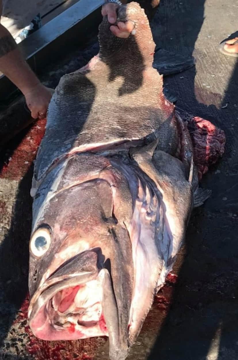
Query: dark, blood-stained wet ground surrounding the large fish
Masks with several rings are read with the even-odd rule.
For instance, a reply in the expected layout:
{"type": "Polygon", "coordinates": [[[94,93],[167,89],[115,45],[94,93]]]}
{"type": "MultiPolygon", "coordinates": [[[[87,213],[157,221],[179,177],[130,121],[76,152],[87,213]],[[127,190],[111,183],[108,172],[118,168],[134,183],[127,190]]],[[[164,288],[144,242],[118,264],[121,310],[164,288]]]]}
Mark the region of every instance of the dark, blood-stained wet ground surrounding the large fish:
{"type": "MultiPolygon", "coordinates": [[[[207,118],[226,134],[225,154],[202,180],[212,196],[193,211],[186,245],[131,350],[131,360],[234,360],[238,357],[238,63],[217,45],[237,27],[238,4],[221,0],[161,0],[152,30],[157,45],[197,58],[195,68],[165,78],[176,105],[207,118]]],[[[94,39],[46,69],[43,81],[84,65],[94,39]]],[[[41,121],[18,135],[1,155],[0,359],[108,359],[104,338],[48,343],[27,326],[28,239],[32,160],[41,121]]]]}

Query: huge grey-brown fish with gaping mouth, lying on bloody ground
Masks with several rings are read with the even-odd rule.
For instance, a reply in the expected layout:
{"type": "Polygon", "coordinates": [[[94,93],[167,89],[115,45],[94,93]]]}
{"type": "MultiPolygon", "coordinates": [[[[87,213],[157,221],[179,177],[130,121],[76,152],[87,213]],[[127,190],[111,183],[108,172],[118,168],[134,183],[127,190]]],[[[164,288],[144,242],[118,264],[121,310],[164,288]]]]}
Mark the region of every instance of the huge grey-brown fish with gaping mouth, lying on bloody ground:
{"type": "Polygon", "coordinates": [[[183,121],[152,67],[155,44],[137,3],[107,18],[99,56],[65,75],[49,105],[31,194],[29,321],[45,340],[109,337],[125,359],[183,244],[198,188],[183,121]]]}

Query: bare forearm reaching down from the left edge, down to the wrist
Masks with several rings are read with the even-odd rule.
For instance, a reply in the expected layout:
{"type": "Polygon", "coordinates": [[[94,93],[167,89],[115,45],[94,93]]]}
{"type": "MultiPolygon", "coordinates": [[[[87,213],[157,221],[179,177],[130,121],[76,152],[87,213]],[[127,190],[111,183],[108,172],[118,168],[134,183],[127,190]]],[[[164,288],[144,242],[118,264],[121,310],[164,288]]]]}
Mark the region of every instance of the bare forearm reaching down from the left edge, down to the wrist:
{"type": "Polygon", "coordinates": [[[25,95],[39,80],[25,62],[12,35],[0,24],[0,71],[25,95]]]}

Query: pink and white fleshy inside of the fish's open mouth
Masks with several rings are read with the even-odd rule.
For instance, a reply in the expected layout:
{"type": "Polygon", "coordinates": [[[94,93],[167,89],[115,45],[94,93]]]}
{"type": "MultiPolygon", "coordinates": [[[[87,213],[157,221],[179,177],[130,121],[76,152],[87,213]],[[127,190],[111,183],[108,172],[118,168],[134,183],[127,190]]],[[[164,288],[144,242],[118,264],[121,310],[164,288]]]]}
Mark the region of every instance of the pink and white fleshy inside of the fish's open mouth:
{"type": "Polygon", "coordinates": [[[108,336],[101,294],[96,280],[59,291],[30,319],[32,332],[49,341],[108,336]]]}

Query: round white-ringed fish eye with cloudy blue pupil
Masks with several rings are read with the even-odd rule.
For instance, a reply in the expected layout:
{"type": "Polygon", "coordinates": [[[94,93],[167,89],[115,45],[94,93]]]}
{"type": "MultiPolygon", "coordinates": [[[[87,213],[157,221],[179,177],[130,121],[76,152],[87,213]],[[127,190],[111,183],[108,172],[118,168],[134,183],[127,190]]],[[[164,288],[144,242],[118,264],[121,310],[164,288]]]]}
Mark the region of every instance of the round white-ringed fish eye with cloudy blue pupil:
{"type": "Polygon", "coordinates": [[[30,251],[35,257],[42,257],[49,250],[52,233],[49,228],[39,228],[30,240],[30,251]]]}

